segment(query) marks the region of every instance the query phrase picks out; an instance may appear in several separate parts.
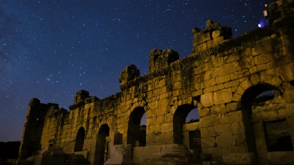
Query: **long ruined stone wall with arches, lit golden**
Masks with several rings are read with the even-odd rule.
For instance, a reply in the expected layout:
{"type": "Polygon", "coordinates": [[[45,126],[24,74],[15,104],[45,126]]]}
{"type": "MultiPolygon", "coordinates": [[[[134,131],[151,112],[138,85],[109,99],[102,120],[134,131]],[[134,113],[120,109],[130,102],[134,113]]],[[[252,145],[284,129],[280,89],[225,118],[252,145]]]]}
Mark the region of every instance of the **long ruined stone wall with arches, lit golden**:
{"type": "Polygon", "coordinates": [[[19,159],[53,146],[91,165],[294,164],[293,8],[294,0],[274,1],[270,25],[236,39],[208,20],[205,30],[192,30],[191,55],[179,60],[175,51],[153,49],[147,75],[130,65],[120,74],[121,92],[100,100],[81,90],[70,111],[33,98],[19,159]],[[258,103],[264,91],[275,95],[258,103]],[[185,124],[196,107],[199,122],[185,124]],[[139,137],[145,112],[146,144],[139,137]],[[188,151],[196,130],[201,154],[188,151]]]}

